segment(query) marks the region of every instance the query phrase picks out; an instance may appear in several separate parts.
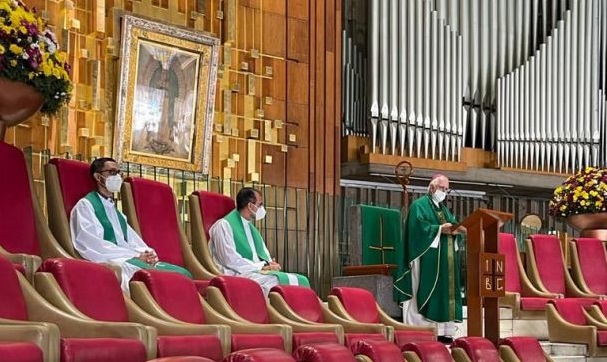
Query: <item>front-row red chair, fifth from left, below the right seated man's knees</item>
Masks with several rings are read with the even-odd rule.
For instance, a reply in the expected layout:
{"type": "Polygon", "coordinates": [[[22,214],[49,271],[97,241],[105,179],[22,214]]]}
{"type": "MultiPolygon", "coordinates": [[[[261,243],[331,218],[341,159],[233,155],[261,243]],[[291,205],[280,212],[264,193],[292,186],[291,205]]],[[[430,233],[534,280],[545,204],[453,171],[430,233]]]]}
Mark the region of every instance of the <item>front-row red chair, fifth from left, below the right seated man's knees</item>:
{"type": "Polygon", "coordinates": [[[373,360],[390,361],[400,356],[399,348],[387,340],[387,327],[380,323],[359,323],[341,318],[323,305],[316,293],[306,287],[278,285],[270,291],[270,305],[283,316],[300,323],[335,323],[344,327],[346,346],[355,355],[371,353],[373,360]],[[366,343],[357,344],[358,341],[366,343]],[[354,346],[357,347],[354,347],[354,346]]]}

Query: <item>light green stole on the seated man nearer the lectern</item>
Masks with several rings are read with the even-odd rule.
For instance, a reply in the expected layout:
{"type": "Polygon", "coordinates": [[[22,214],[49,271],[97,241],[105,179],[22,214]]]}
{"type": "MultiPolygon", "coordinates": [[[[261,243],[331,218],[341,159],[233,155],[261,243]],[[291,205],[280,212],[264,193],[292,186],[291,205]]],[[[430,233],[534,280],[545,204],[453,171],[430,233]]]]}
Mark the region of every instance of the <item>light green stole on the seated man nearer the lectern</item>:
{"type": "MultiPolygon", "coordinates": [[[[247,234],[245,233],[244,225],[242,223],[242,217],[240,216],[240,213],[238,212],[238,210],[234,209],[228,215],[226,215],[225,219],[228,222],[228,224],[230,224],[230,227],[232,228],[232,234],[234,235],[234,245],[236,247],[236,251],[243,258],[252,261],[253,260],[253,250],[251,249],[249,240],[247,239],[247,234]]],[[[266,248],[264,246],[263,238],[261,237],[259,230],[257,230],[255,225],[253,225],[253,224],[249,224],[249,227],[251,229],[251,236],[253,237],[253,245],[255,246],[255,252],[257,253],[257,256],[262,261],[269,263],[271,261],[271,259],[270,259],[270,256],[266,253],[266,248]]],[[[310,282],[308,281],[308,278],[306,278],[305,276],[300,275],[300,274],[284,273],[284,272],[274,271],[274,270],[267,271],[266,274],[275,275],[278,278],[278,282],[283,285],[292,284],[291,281],[289,280],[289,275],[291,275],[291,276],[294,276],[297,278],[297,285],[301,285],[304,287],[310,286],[310,282]]]]}

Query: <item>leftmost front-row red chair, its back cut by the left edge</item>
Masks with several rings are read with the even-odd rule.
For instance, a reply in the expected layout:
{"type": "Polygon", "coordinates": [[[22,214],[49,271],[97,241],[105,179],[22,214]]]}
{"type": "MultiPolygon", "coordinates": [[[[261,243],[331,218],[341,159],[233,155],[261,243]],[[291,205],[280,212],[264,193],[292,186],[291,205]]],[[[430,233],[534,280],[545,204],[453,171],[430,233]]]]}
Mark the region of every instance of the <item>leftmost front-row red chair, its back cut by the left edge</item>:
{"type": "Polygon", "coordinates": [[[53,343],[50,348],[59,351],[61,361],[145,361],[155,357],[155,346],[146,344],[155,334],[153,329],[135,323],[97,322],[66,313],[40,296],[1,257],[0,285],[0,324],[34,325],[51,334],[60,333],[61,343],[53,343]]]}

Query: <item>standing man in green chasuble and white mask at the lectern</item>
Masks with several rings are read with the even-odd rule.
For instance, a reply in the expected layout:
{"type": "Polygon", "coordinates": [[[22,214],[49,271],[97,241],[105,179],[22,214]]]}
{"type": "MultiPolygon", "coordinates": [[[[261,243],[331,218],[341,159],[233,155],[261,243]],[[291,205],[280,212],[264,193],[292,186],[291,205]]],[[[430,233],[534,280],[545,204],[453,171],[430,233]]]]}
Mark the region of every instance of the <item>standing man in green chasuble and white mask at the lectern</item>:
{"type": "Polygon", "coordinates": [[[449,192],[449,179],[435,175],[428,193],[411,203],[404,225],[404,262],[394,282],[404,322],[434,325],[444,342],[455,334],[454,322],[462,320],[457,239],[466,231],[463,226],[454,229],[457,221],[444,204],[449,192]]]}

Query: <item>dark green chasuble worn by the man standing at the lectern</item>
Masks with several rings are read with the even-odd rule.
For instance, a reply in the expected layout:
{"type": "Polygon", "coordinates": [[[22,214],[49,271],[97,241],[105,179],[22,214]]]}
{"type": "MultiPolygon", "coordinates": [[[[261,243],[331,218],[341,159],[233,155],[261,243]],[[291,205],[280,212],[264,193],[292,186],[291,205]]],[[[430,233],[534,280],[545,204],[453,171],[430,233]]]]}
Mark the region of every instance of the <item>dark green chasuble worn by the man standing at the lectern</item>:
{"type": "Polygon", "coordinates": [[[421,315],[434,322],[462,320],[462,296],[455,245],[456,235],[441,234],[438,247],[430,247],[440,225],[457,224],[455,217],[443,205],[437,207],[430,195],[411,203],[405,220],[399,277],[394,282],[399,302],[412,297],[411,262],[419,259],[417,308],[421,315]]]}

